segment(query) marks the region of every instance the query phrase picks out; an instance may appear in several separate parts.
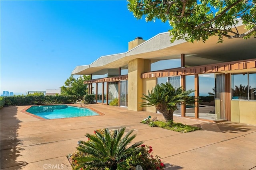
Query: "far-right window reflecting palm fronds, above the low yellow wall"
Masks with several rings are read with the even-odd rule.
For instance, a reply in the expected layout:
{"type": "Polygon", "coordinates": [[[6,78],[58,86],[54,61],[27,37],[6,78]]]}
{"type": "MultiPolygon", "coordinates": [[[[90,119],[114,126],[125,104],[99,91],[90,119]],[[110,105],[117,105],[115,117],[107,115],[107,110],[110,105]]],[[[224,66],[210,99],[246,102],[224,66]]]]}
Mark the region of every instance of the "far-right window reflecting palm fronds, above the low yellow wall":
{"type": "Polygon", "coordinates": [[[232,99],[256,100],[256,73],[232,74],[232,99]]]}

